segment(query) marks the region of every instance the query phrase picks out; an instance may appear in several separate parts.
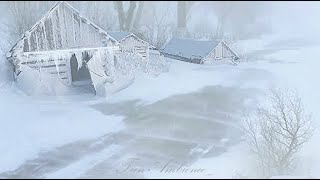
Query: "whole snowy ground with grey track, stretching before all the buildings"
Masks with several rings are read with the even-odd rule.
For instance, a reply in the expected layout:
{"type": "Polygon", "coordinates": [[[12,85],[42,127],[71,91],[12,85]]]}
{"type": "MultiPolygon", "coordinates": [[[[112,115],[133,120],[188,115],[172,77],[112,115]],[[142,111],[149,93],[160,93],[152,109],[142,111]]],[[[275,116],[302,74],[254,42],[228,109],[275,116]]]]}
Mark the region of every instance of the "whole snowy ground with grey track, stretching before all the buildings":
{"type": "MultiPolygon", "coordinates": [[[[2,85],[0,177],[254,177],[238,123],[269,88],[296,88],[319,127],[320,46],[281,38],[240,42],[247,59],[237,66],[172,60],[169,72],[140,73],[106,98],[27,96],[2,85]],[[125,170],[131,158],[131,168],[144,170],[125,170]],[[172,168],[205,170],[161,172],[171,160],[172,168]]],[[[319,138],[317,130],[288,176],[320,177],[319,138]]]]}

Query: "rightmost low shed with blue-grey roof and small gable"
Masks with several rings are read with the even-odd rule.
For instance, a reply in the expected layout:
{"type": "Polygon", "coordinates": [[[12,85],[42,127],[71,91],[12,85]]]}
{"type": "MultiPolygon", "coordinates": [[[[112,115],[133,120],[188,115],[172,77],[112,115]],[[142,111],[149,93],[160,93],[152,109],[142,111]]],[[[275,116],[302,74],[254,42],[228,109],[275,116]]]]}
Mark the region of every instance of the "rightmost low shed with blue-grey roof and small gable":
{"type": "Polygon", "coordinates": [[[165,57],[203,64],[214,60],[237,60],[238,55],[224,41],[172,38],[160,50],[165,57]]]}

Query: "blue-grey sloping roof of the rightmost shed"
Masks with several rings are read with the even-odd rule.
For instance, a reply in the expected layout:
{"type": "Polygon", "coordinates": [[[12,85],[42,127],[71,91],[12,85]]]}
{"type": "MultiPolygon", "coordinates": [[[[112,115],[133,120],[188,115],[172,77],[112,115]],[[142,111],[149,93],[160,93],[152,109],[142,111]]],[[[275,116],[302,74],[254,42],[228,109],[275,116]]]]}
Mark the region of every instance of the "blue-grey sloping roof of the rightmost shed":
{"type": "Polygon", "coordinates": [[[202,59],[220,42],[221,41],[172,38],[161,51],[166,54],[181,56],[188,59],[202,59]]]}

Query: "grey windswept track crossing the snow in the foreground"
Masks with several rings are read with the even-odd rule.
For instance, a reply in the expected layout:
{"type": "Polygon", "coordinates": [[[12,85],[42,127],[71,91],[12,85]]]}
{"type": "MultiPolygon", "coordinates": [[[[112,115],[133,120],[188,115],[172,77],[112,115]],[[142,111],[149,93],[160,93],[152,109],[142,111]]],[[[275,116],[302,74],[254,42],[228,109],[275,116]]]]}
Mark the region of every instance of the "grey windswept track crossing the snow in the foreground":
{"type": "Polygon", "coordinates": [[[126,128],[42,152],[0,177],[139,177],[143,175],[117,173],[115,165],[120,171],[130,158],[152,167],[155,162],[190,164],[202,156],[217,156],[239,141],[238,119],[231,115],[240,112],[249,95],[252,92],[246,89],[212,86],[149,105],[137,101],[94,104],[92,108],[106,115],[124,116],[126,128]],[[112,146],[117,148],[109,150],[112,146]]]}

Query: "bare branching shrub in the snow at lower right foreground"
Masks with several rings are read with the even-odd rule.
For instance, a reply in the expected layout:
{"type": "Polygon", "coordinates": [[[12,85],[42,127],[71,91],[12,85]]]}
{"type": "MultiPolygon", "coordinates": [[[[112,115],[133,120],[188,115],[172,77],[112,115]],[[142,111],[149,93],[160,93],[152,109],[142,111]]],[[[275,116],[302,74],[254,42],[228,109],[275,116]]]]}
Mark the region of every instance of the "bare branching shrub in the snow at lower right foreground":
{"type": "Polygon", "coordinates": [[[247,117],[242,126],[264,177],[290,173],[296,153],[313,132],[311,114],[296,92],[272,90],[268,103],[247,117]]]}

